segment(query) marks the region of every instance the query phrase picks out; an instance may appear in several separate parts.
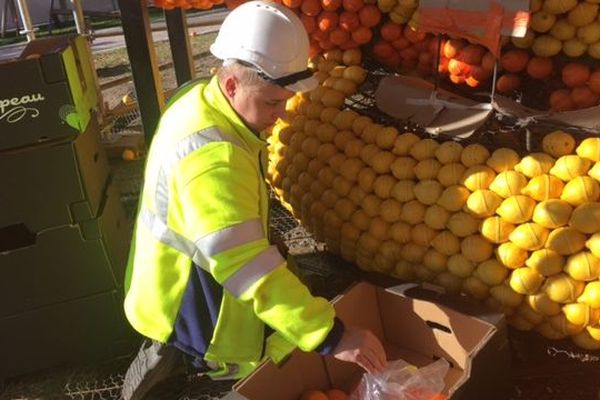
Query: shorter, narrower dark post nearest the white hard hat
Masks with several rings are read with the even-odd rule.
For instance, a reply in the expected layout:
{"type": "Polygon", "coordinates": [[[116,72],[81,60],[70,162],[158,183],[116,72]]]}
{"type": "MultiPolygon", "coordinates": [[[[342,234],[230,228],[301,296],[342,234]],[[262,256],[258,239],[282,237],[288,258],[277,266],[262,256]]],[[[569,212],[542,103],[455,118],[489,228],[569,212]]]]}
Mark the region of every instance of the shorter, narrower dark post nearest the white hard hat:
{"type": "Polygon", "coordinates": [[[185,11],[180,8],[165,10],[165,20],[177,86],[181,86],[194,77],[194,61],[191,57],[192,49],[190,47],[185,11]]]}

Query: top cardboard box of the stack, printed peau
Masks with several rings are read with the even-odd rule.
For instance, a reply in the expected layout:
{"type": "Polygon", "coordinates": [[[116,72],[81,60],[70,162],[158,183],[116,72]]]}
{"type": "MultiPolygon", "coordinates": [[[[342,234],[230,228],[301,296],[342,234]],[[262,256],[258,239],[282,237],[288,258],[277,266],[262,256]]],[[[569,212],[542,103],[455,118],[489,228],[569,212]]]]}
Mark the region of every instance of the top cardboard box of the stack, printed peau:
{"type": "Polygon", "coordinates": [[[0,63],[0,149],[85,131],[98,102],[90,54],[82,36],[52,37],[0,63]]]}

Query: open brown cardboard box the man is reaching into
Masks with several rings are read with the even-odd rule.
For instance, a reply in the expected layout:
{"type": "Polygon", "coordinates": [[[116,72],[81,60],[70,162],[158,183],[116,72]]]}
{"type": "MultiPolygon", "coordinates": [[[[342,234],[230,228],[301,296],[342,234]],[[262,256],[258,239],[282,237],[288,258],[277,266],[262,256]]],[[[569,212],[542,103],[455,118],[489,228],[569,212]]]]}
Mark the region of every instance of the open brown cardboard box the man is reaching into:
{"type": "MultiPolygon", "coordinates": [[[[382,289],[366,282],[335,301],[346,323],[372,330],[389,360],[417,366],[438,358],[451,364],[445,394],[453,400],[504,399],[509,349],[504,316],[464,297],[440,295],[414,285],[382,289]]],[[[360,380],[356,365],[296,351],[277,366],[265,362],[234,386],[228,400],[298,400],[310,389],[350,391],[360,380]]]]}

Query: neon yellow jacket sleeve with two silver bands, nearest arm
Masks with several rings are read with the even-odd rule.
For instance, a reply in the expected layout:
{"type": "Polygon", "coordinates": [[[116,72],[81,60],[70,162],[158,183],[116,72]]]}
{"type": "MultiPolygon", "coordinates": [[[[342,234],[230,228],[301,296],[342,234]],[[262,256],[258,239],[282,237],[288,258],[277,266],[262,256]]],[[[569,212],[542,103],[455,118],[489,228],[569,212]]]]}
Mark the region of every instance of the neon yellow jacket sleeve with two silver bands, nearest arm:
{"type": "Polygon", "coordinates": [[[286,340],[304,351],[320,346],[334,327],[334,309],[312,296],[269,244],[259,211],[262,181],[249,155],[211,144],[182,160],[176,173],[179,209],[169,215],[197,244],[203,267],[286,340]]]}

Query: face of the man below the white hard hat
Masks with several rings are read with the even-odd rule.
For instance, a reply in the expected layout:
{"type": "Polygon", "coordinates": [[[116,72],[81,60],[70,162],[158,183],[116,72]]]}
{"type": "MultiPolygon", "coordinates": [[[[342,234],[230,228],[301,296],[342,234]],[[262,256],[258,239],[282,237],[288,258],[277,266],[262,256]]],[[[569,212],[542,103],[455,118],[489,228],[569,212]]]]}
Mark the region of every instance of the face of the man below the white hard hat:
{"type": "Polygon", "coordinates": [[[286,116],[285,103],[294,95],[281,86],[266,84],[244,86],[237,84],[231,105],[249,128],[261,132],[286,116]]]}

